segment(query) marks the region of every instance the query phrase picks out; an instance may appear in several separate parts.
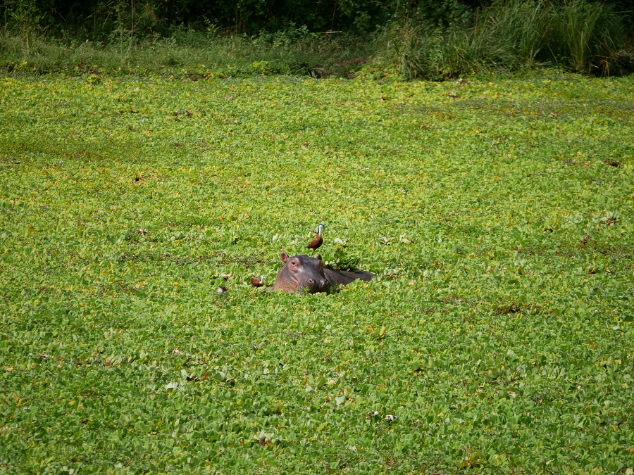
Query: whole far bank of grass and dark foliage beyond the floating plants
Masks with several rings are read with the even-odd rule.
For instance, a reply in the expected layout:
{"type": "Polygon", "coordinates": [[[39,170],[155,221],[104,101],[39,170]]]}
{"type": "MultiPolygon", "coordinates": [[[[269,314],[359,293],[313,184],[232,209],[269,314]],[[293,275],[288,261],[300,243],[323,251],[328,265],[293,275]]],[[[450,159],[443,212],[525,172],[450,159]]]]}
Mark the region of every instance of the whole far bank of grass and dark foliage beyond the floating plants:
{"type": "Polygon", "coordinates": [[[0,4],[0,68],[56,70],[95,57],[99,68],[128,68],[155,56],[170,66],[231,68],[226,58],[248,56],[318,76],[349,74],[342,65],[350,61],[406,79],[542,65],[624,75],[634,72],[627,8],[590,0],[9,0],[0,4]]]}

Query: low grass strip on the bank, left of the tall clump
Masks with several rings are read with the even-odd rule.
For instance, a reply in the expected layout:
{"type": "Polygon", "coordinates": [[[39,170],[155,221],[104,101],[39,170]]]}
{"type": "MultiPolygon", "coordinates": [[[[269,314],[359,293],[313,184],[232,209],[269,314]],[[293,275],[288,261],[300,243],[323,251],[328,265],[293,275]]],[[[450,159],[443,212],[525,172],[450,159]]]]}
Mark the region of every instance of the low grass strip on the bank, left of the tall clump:
{"type": "Polygon", "coordinates": [[[367,42],[344,34],[332,37],[298,28],[221,36],[216,31],[180,28],[170,37],[139,40],[115,34],[108,42],[25,37],[0,31],[0,67],[40,72],[179,71],[200,70],[218,75],[280,73],[291,75],[347,75],[368,56],[367,42]]]}

